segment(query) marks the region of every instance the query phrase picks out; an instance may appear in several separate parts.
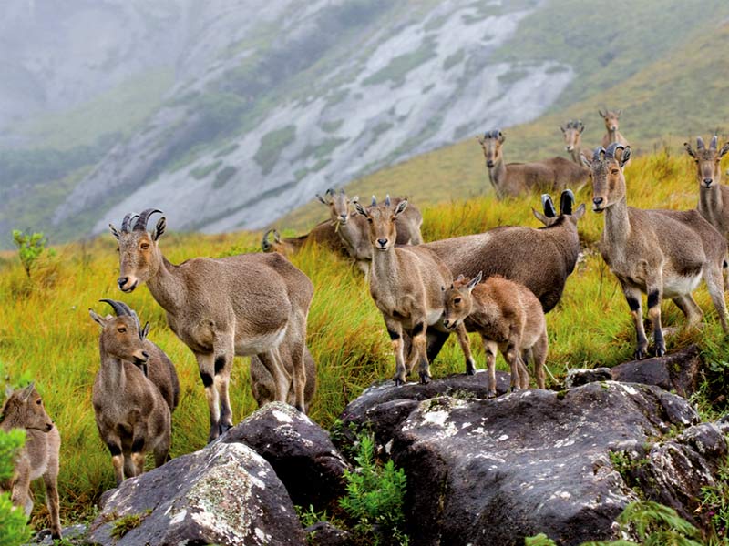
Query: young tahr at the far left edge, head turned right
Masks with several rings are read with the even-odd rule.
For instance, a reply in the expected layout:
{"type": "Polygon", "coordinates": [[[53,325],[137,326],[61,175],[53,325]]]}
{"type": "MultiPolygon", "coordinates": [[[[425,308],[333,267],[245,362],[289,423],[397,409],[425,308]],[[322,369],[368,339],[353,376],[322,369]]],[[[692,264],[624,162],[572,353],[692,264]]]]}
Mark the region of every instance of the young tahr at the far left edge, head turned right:
{"type": "Polygon", "coordinates": [[[8,389],[7,399],[0,410],[0,430],[19,429],[26,432],[26,443],[15,457],[13,477],[0,482],[0,493],[9,492],[14,506],[22,508],[26,516],[33,510],[30,482],[43,477],[46,486],[46,504],[51,521],[51,538],[61,539],[61,520],[58,512],[58,460],[61,436],[46,413],[43,399],[33,383],[25,389],[8,389]]]}

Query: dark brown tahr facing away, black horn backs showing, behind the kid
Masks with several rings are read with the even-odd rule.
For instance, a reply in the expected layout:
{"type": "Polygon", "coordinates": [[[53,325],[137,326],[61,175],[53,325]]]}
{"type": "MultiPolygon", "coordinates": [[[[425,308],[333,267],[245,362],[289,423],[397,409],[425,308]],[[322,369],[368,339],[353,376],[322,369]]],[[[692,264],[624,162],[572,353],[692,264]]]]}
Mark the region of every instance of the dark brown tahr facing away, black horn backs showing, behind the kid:
{"type": "MultiPolygon", "coordinates": [[[[585,206],[573,210],[574,194],[566,189],[557,216],[551,197],[542,196],[544,213],[535,216],[545,225],[536,229],[504,226],[485,233],[447,238],[421,245],[432,249],[451,272],[469,278],[483,272],[485,278],[500,275],[529,288],[545,313],[562,297],[565,282],[580,255],[577,222],[585,206]]],[[[428,339],[428,358],[433,360],[447,336],[434,331],[428,339]]]]}

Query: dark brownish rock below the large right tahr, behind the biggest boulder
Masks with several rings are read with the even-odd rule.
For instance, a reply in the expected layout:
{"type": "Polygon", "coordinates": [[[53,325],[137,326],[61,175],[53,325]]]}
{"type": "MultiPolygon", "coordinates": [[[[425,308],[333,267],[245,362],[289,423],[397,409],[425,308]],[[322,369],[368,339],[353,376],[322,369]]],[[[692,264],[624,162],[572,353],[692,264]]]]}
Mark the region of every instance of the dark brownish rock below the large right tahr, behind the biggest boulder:
{"type": "Polygon", "coordinates": [[[655,385],[688,398],[695,392],[701,369],[701,349],[690,345],[662,358],[631,360],[611,369],[612,379],[655,385]]]}

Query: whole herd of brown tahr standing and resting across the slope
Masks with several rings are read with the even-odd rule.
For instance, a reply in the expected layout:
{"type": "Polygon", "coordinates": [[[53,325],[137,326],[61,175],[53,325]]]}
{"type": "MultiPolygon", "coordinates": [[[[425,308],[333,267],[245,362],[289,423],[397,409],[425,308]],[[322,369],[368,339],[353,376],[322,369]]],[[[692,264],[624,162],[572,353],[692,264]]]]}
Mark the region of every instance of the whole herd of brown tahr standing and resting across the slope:
{"type": "MultiPolygon", "coordinates": [[[[128,293],[146,283],[167,312],[169,328],[195,355],[210,410],[210,441],[233,423],[229,380],[235,356],[251,357],[252,391],[259,405],[279,400],[308,410],[316,383],[315,364],[306,347],[314,290],[311,280],[287,258],[305,243],[342,251],[363,269],[392,340],[396,385],[403,384],[416,365],[420,381],[430,381],[430,362],[451,332],[456,332],[463,350],[466,373],[475,373],[468,333],[477,332],[486,349],[489,396],[496,395],[497,349],[510,366],[511,389],[529,388],[529,361],[543,389],[548,353],[544,314],[560,301],[580,253],[577,223],[585,206],[575,207],[569,187],[580,188],[590,178],[592,210],[605,213],[601,255],[630,308],[636,358],[648,351],[641,294],[647,295],[657,356],[665,352],[662,299],[672,299],[689,324],[698,323],[703,313],[692,292],[702,278],[726,331],[729,187],[720,185],[719,163],[729,144],[718,149],[714,136],[708,146],[702,138],[695,148],[685,145],[696,161],[700,183],[696,210],[632,208],[623,177],[631,147],[618,131],[620,111],[600,114],[607,133],[601,146],[588,154],[581,150],[580,121],[560,127],[572,161],[554,157],[506,163],[501,131],[477,137],[497,197],[561,192],[559,214],[549,194],[542,196],[542,212],[534,211],[544,224],[539,229],[497,227],[424,244],[422,217],[406,199],[385,197],[377,203],[373,197],[365,206],[344,190],[330,189],[317,196],[329,208],[330,219],[303,237],[281,238],[269,231],[262,253],[191,258],[175,265],[159,245],[165,218],[148,230],[149,217],[160,212],[150,208],[128,214],[119,228],[110,226],[118,241],[118,288],[128,293]]],[[[102,301],[114,314],[90,310],[101,328],[93,404],[119,484],[142,472],[148,451],[158,466],[169,459],[170,414],[178,404],[180,386],[173,364],[147,339],[149,325],[142,327],[125,303],[102,301]]],[[[5,490],[12,490],[15,505],[29,513],[29,483],[42,476],[51,532],[57,538],[60,437],[34,386],[10,392],[0,419],[2,430],[26,430],[15,478],[5,490]]]]}

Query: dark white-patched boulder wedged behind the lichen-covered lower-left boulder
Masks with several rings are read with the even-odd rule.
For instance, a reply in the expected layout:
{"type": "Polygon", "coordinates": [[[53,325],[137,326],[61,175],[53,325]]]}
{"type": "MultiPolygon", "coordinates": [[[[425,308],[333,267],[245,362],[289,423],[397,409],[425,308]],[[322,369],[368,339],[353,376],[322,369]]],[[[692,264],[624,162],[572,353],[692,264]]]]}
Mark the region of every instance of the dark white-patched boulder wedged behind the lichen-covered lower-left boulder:
{"type": "Polygon", "coordinates": [[[344,494],[349,465],[329,433],[289,404],[272,402],[255,411],[222,437],[242,442],[271,463],[294,504],[317,511],[344,494]]]}

